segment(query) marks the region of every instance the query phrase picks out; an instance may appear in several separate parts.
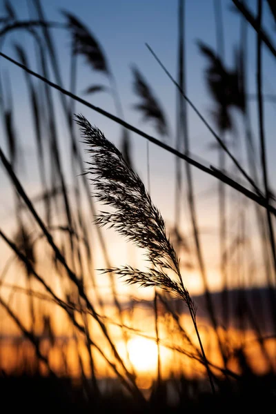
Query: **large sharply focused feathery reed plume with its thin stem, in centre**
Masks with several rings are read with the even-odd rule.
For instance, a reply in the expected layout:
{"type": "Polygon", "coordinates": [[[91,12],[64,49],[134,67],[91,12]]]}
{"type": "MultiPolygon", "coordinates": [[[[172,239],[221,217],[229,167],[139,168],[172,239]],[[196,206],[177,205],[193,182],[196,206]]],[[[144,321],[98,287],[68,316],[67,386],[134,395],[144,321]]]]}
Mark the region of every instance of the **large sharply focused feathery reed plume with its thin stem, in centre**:
{"type": "Polygon", "coordinates": [[[122,266],[101,269],[102,272],[116,273],[124,277],[128,284],[162,288],[184,300],[193,320],[212,390],[215,392],[212,374],[197,329],[196,306],[184,286],[179,259],[166,236],[163,217],[152,203],[143,182],[127,164],[121,152],[83,115],[76,115],[76,122],[80,126],[83,143],[87,145],[86,150],[92,160],[88,162],[88,169],[84,173],[92,175],[90,181],[95,188],[95,197],[103,205],[115,209],[101,211],[95,220],[96,224],[114,228],[128,241],[144,248],[151,265],[145,271],[132,266],[122,266]],[[177,279],[172,279],[167,274],[168,271],[175,273],[177,279]]]}

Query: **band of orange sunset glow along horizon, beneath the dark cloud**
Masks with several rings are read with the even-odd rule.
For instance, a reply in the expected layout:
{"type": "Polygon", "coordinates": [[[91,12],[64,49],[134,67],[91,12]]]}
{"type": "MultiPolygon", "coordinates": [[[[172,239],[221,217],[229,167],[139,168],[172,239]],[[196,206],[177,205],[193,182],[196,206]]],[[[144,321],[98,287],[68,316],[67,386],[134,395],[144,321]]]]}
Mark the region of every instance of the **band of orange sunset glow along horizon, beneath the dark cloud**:
{"type": "MultiPolygon", "coordinates": [[[[146,317],[143,312],[137,312],[137,315],[132,322],[134,326],[139,326],[141,320],[145,321],[146,317]]],[[[222,367],[223,362],[217,346],[215,332],[208,326],[208,322],[203,319],[198,322],[201,340],[204,344],[208,359],[215,366],[222,367]]],[[[191,341],[198,348],[197,337],[193,331],[188,315],[183,315],[181,317],[181,326],[184,326],[191,341]]],[[[109,326],[108,329],[111,333],[111,326],[109,326]]],[[[189,348],[189,344],[186,342],[183,335],[181,335],[179,331],[177,332],[172,324],[168,324],[168,321],[166,322],[166,319],[163,317],[160,317],[159,330],[161,377],[166,380],[172,374],[178,376],[181,375],[181,373],[184,373],[188,378],[206,377],[206,369],[204,366],[188,356],[190,353],[193,354],[193,348],[189,348]],[[175,350],[173,348],[175,348],[175,350]],[[186,355],[186,353],[188,353],[188,355],[186,355]]],[[[224,332],[219,329],[221,338],[223,334],[224,332]]],[[[121,355],[121,358],[130,372],[133,368],[136,375],[137,385],[142,389],[150,388],[152,382],[157,377],[158,352],[157,343],[155,342],[155,330],[152,324],[148,324],[148,321],[147,332],[145,335],[152,339],[135,334],[128,338],[127,346],[124,339],[121,338],[121,335],[113,336],[114,344],[119,355],[121,355]],[[126,351],[128,351],[128,356],[126,355],[126,351]],[[132,365],[132,368],[130,365],[132,365]]],[[[230,339],[233,347],[238,348],[244,343],[246,346],[246,354],[248,355],[250,366],[253,368],[253,371],[258,374],[266,373],[268,364],[262,354],[262,350],[259,348],[259,343],[253,331],[248,330],[241,332],[238,329],[230,328],[228,331],[228,339],[230,339]]],[[[106,340],[103,339],[102,335],[97,335],[97,333],[95,333],[95,342],[101,348],[103,353],[105,353],[110,362],[119,368],[119,363],[110,352],[110,347],[106,343],[106,340]]],[[[268,355],[270,355],[271,362],[275,365],[275,361],[273,362],[276,346],[275,339],[267,341],[265,346],[268,355]]],[[[97,377],[99,379],[108,377],[115,378],[115,372],[108,366],[97,349],[92,347],[91,350],[93,359],[95,360],[97,377]]],[[[78,343],[76,343],[72,336],[60,337],[57,339],[54,346],[50,346],[48,339],[43,339],[41,342],[41,351],[43,355],[48,355],[50,367],[57,373],[57,375],[70,376],[72,379],[78,380],[81,377],[79,366],[79,357],[81,357],[83,369],[86,375],[88,377],[90,376],[90,362],[83,338],[79,337],[78,343]],[[66,359],[66,364],[64,358],[66,359]]],[[[24,364],[29,367],[36,366],[34,348],[30,342],[23,338],[20,339],[19,337],[6,340],[2,338],[0,340],[0,368],[6,371],[6,373],[16,373],[21,372],[24,364]]],[[[39,366],[41,366],[41,364],[39,364],[39,366]]],[[[229,359],[228,368],[235,373],[239,373],[239,365],[234,353],[229,359]]],[[[216,369],[215,372],[218,375],[221,375],[219,370],[216,369]]],[[[45,366],[41,366],[41,373],[47,373],[45,366]]]]}

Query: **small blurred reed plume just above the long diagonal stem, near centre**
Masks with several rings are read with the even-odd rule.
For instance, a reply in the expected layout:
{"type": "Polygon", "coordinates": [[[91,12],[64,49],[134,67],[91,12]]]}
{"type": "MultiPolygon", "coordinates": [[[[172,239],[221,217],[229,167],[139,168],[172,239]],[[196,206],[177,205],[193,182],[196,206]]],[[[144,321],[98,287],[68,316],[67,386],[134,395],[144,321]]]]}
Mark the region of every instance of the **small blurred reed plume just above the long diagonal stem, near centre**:
{"type": "Polygon", "coordinates": [[[135,78],[135,93],[141,98],[141,103],[135,104],[134,108],[142,112],[144,119],[155,121],[157,132],[160,135],[168,135],[168,125],[164,111],[153,95],[150,86],[135,66],[132,66],[132,73],[135,78]]]}

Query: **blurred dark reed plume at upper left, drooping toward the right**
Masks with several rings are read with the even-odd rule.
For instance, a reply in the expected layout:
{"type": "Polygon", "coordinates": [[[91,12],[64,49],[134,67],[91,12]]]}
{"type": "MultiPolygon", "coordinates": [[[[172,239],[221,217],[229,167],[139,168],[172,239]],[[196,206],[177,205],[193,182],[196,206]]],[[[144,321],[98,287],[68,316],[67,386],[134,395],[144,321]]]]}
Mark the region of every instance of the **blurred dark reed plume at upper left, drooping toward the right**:
{"type": "Polygon", "coordinates": [[[83,24],[73,14],[63,12],[63,15],[68,19],[68,26],[72,32],[73,44],[76,55],[83,55],[86,57],[88,63],[94,70],[110,74],[106,57],[99,46],[99,43],[92,36],[91,32],[83,26],[83,24]]]}

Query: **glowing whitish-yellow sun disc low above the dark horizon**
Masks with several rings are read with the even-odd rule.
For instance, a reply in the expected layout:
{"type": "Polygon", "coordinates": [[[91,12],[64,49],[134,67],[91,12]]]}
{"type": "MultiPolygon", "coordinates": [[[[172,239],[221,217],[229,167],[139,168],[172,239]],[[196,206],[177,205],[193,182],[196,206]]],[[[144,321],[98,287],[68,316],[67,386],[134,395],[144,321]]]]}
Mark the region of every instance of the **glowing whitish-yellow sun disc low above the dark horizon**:
{"type": "Polygon", "coordinates": [[[145,338],[134,338],[128,342],[128,355],[137,371],[153,371],[157,367],[157,344],[145,338]]]}

